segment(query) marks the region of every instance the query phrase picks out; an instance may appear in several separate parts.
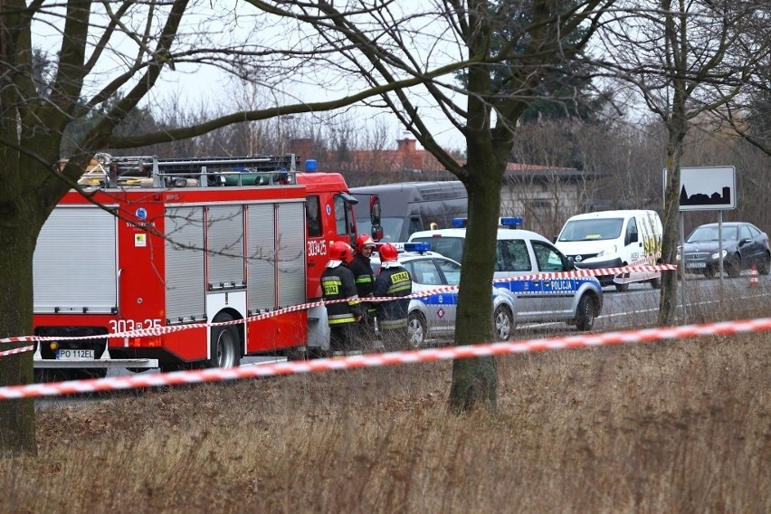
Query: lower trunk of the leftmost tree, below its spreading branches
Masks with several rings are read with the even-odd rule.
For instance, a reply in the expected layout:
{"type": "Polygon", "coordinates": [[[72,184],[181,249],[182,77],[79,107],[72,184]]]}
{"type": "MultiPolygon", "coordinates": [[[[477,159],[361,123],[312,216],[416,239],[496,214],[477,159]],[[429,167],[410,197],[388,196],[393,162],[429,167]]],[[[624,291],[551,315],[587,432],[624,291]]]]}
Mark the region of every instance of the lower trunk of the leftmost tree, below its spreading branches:
{"type": "MultiPolygon", "coordinates": [[[[0,204],[0,338],[30,335],[33,318],[33,252],[39,227],[29,205],[0,204]]],[[[40,215],[40,214],[36,214],[40,215]]],[[[1,349],[29,346],[3,344],[1,349]]],[[[0,386],[31,384],[33,353],[0,357],[0,386]]],[[[0,455],[37,452],[34,400],[0,400],[0,455]]]]}

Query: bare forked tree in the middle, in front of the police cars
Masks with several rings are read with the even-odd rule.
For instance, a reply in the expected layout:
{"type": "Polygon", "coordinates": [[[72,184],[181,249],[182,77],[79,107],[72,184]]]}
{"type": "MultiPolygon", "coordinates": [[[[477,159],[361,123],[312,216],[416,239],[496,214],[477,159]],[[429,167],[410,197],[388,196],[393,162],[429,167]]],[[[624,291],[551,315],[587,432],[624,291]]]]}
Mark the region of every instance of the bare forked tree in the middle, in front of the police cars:
{"type": "MultiPolygon", "coordinates": [[[[341,80],[355,74],[371,88],[411,78],[421,81],[414,90],[384,93],[376,105],[395,113],[466,186],[470,221],[455,343],[490,340],[492,328],[479,320],[491,319],[492,305],[481,299],[490,297],[500,184],[517,121],[537,96],[541,78],[576,58],[603,9],[614,2],[436,0],[339,6],[248,1],[300,24],[314,55],[324,56],[327,68],[338,70],[341,80]],[[465,163],[434,138],[432,117],[437,111],[462,132],[465,163]]],[[[294,45],[285,52],[296,57],[298,49],[294,45]]],[[[494,409],[496,391],[492,357],[454,363],[453,409],[494,409]]]]}

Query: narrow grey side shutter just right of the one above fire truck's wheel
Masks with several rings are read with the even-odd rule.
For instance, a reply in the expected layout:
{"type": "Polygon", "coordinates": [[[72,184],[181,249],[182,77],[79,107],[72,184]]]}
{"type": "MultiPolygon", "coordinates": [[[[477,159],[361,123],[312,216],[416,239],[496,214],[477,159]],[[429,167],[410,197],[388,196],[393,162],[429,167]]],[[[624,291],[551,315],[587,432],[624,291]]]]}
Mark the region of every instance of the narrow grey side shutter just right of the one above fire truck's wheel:
{"type": "Polygon", "coordinates": [[[249,205],[246,214],[247,302],[253,312],[276,307],[275,223],[273,204],[249,205]]]}

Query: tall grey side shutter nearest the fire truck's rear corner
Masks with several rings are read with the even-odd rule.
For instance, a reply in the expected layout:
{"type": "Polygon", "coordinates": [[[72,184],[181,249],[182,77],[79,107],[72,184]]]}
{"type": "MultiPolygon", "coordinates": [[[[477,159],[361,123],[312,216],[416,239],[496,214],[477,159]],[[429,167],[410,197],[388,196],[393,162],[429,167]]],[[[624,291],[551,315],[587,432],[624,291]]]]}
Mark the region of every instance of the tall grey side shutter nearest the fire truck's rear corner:
{"type": "Polygon", "coordinates": [[[166,237],[167,319],[204,319],[204,208],[167,207],[166,237]]]}

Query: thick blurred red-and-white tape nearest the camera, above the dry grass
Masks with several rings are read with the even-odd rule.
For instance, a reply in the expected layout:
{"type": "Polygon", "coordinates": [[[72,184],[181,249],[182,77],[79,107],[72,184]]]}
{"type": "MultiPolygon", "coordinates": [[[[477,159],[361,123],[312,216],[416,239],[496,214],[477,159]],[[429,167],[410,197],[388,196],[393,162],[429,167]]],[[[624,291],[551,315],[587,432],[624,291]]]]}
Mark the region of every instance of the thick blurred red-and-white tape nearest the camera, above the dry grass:
{"type": "Polygon", "coordinates": [[[258,376],[297,375],[300,373],[313,373],[319,371],[395,366],[400,364],[452,360],[456,358],[502,356],[566,348],[654,342],[675,338],[698,338],[701,336],[737,334],[763,330],[771,330],[771,319],[744,319],[703,325],[647,328],[644,330],[627,330],[622,332],[585,334],[560,338],[540,338],[465,347],[429,348],[386,354],[368,354],[365,356],[339,359],[325,358],[318,360],[281,362],[261,366],[233,367],[229,369],[216,368],[195,371],[176,371],[173,373],[157,373],[148,376],[119,376],[46,384],[30,384],[24,386],[5,386],[0,387],[0,400],[39,396],[77,395],[81,393],[138,389],[153,386],[178,386],[182,384],[220,382],[224,380],[238,380],[258,376]]]}

